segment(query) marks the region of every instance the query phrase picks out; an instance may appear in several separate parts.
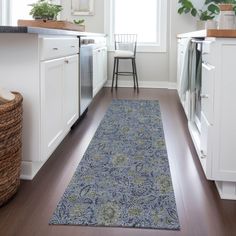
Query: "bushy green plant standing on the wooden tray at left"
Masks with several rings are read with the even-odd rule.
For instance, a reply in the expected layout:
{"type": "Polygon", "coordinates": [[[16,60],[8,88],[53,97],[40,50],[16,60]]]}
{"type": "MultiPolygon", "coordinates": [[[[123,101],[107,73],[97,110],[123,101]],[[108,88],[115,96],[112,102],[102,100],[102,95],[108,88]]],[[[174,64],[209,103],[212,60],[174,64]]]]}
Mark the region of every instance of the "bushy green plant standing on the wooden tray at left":
{"type": "Polygon", "coordinates": [[[56,20],[58,14],[63,10],[61,5],[52,4],[49,0],[39,0],[30,6],[32,6],[30,15],[34,19],[56,20]]]}

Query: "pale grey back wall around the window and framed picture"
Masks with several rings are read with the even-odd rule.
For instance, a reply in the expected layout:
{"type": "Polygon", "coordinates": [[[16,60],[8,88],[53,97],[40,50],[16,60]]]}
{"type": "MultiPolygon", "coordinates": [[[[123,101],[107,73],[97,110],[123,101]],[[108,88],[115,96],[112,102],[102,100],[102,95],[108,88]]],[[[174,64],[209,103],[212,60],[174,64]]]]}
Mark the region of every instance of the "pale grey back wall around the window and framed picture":
{"type": "MultiPolygon", "coordinates": [[[[168,42],[166,53],[138,53],[137,54],[137,69],[139,80],[144,81],[143,84],[157,85],[160,82],[176,82],[176,52],[177,52],[177,40],[176,35],[178,33],[184,33],[193,31],[196,29],[196,19],[193,19],[189,15],[178,15],[178,0],[168,1],[168,42]]],[[[197,6],[201,7],[201,2],[204,0],[193,0],[197,6]]],[[[81,16],[85,19],[86,31],[89,32],[104,32],[104,0],[94,0],[95,2],[95,15],[94,16],[81,16]]],[[[62,19],[73,20],[71,16],[71,1],[61,0],[61,4],[64,7],[62,13],[62,19]]],[[[111,79],[113,69],[113,57],[112,53],[109,53],[108,63],[108,78],[111,79]]],[[[124,65],[121,65],[124,68],[124,65]]],[[[125,68],[124,68],[125,69],[125,68]]],[[[129,69],[129,68],[127,68],[129,69]]],[[[132,83],[132,80],[130,80],[132,83]]],[[[142,82],[141,82],[142,83],[142,82]]]]}

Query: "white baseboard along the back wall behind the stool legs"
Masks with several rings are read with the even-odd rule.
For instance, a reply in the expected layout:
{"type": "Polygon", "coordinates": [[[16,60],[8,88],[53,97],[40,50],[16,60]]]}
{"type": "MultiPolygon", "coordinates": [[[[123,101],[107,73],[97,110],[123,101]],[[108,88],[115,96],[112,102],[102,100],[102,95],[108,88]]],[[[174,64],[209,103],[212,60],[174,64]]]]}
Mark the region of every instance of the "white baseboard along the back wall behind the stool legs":
{"type": "MultiPolygon", "coordinates": [[[[111,87],[112,81],[108,80],[104,87],[111,87]]],[[[119,80],[119,88],[132,88],[134,86],[132,80],[119,80]]],[[[177,84],[168,81],[139,81],[140,88],[165,88],[165,89],[177,89],[177,84]]]]}

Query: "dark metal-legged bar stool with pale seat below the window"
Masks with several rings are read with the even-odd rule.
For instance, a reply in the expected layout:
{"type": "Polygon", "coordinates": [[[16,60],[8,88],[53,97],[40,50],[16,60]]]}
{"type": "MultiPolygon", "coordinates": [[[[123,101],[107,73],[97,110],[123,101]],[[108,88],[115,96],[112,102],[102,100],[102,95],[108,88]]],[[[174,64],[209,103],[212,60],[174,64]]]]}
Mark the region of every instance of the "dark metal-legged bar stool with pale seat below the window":
{"type": "Polygon", "coordinates": [[[138,75],[137,75],[137,67],[136,67],[137,34],[115,34],[114,41],[115,41],[115,55],[114,55],[111,91],[113,91],[115,78],[116,78],[115,87],[117,88],[119,75],[133,76],[134,89],[137,88],[137,91],[139,91],[138,75]],[[132,71],[131,72],[119,71],[120,60],[131,60],[132,71]]]}

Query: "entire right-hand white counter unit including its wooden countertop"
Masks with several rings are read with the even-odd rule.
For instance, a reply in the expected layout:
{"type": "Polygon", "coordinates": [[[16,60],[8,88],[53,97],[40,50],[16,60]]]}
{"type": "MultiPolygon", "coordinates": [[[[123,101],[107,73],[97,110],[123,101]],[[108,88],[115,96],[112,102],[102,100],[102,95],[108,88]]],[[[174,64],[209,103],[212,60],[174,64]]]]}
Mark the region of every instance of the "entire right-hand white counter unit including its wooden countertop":
{"type": "Polygon", "coordinates": [[[178,93],[189,131],[206,178],[215,181],[221,198],[231,200],[236,200],[235,55],[236,30],[178,35],[178,93]],[[201,55],[201,81],[183,91],[193,47],[201,55]]]}

